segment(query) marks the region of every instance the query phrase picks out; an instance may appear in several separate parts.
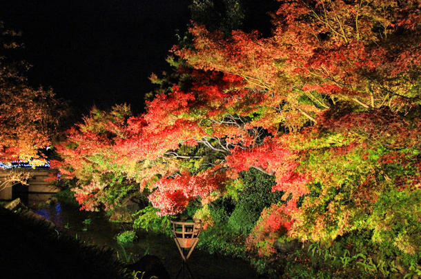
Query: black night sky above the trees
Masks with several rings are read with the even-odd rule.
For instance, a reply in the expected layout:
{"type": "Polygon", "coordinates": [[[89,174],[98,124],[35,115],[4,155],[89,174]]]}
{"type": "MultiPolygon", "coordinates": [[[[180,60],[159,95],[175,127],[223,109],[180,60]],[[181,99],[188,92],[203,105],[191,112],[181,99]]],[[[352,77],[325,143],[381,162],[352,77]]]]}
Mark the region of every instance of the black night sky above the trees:
{"type": "Polygon", "coordinates": [[[151,72],[190,19],[190,0],[2,1],[0,20],[21,30],[32,86],[51,86],[75,112],[130,103],[143,108],[151,72]]]}

